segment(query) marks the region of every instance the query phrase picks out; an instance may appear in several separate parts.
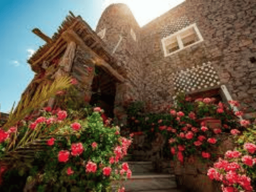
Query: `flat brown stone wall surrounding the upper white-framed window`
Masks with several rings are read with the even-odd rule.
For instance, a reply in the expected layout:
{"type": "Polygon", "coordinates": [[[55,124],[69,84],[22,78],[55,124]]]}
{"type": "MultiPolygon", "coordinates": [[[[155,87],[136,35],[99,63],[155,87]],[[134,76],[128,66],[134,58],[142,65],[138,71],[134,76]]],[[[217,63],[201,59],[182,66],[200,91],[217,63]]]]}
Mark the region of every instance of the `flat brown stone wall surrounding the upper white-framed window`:
{"type": "Polygon", "coordinates": [[[144,26],[144,99],[154,104],[172,100],[172,73],[210,61],[233,99],[256,108],[255,10],[253,0],[186,0],[144,26]],[[164,57],[161,38],[192,23],[204,41],[164,57]]]}

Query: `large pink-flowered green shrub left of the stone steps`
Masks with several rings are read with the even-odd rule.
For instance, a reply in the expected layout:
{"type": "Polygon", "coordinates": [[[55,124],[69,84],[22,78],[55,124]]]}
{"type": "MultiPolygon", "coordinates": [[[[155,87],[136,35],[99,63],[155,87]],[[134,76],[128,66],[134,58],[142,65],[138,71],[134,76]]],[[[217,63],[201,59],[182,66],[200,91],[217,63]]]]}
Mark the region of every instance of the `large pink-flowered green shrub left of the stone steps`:
{"type": "MultiPolygon", "coordinates": [[[[42,131],[46,135],[43,141],[45,148],[36,153],[30,162],[31,166],[24,166],[26,186],[32,185],[40,192],[105,192],[111,191],[111,180],[131,177],[128,164],[120,163],[127,154],[131,139],[116,134],[118,127],[105,126],[99,109],[91,110],[87,118],[77,119],[66,111],[45,108],[42,116],[34,121],[30,119],[23,122],[23,126],[18,129],[21,136],[28,131],[42,131]]],[[[9,131],[0,129],[0,157],[5,153],[8,138],[14,137],[16,131],[17,128],[10,128],[9,131]]],[[[0,163],[0,181],[3,178],[3,186],[5,182],[8,183],[10,171],[6,171],[6,166],[0,163]]]]}

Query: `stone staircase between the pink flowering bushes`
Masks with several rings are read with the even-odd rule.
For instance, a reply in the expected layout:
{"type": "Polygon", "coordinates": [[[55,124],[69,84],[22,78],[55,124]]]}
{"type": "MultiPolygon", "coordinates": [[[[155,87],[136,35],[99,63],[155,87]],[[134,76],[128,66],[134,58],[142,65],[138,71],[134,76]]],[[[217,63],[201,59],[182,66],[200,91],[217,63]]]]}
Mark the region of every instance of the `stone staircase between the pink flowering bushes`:
{"type": "MultiPolygon", "coordinates": [[[[121,185],[125,187],[125,192],[181,192],[177,189],[173,169],[168,166],[163,167],[161,173],[157,173],[151,161],[130,161],[129,168],[132,176],[127,181],[123,180],[121,185]]],[[[112,183],[112,191],[115,192],[117,183],[112,183]]]]}

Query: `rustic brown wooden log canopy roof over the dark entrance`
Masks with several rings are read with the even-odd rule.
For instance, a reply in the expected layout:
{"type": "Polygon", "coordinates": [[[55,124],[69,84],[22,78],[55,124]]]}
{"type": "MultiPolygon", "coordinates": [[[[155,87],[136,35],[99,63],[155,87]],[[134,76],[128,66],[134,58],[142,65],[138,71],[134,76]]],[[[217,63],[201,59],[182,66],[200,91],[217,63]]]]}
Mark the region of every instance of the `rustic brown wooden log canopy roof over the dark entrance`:
{"type": "Polygon", "coordinates": [[[123,82],[125,80],[124,70],[116,64],[116,59],[110,54],[102,39],[80,16],[75,17],[70,12],[52,38],[47,37],[37,28],[32,32],[47,42],[28,60],[32,70],[36,73],[41,73],[43,69],[49,67],[45,65],[50,64],[63,52],[64,58],[59,65],[65,66],[64,70],[68,72],[74,58],[73,49],[76,49],[76,45],[78,45],[90,55],[90,61],[96,66],[100,66],[116,81],[123,82]]]}

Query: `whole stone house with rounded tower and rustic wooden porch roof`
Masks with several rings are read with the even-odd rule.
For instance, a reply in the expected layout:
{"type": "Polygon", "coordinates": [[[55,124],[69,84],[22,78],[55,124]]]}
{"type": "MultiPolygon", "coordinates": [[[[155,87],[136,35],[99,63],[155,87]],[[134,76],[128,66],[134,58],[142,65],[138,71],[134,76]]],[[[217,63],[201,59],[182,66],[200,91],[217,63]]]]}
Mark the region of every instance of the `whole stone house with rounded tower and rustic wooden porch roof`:
{"type": "Polygon", "coordinates": [[[36,77],[56,61],[68,66],[63,72],[87,82],[81,94],[98,96],[109,114],[131,99],[166,105],[180,92],[256,108],[256,1],[185,0],[143,27],[128,6],[112,4],[95,32],[70,14],[52,38],[34,30],[47,44],[28,63],[36,77]]]}

